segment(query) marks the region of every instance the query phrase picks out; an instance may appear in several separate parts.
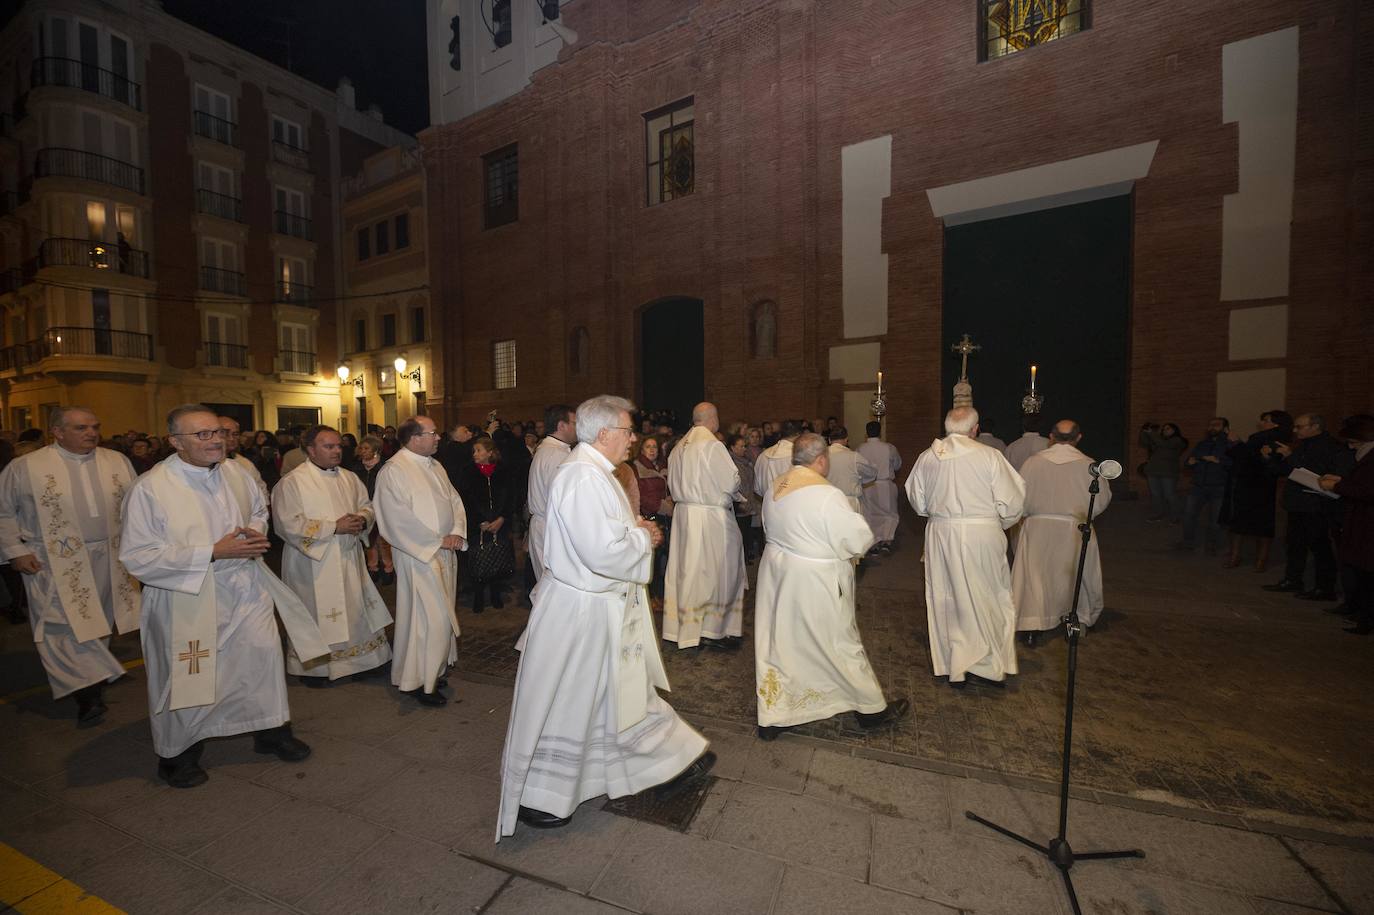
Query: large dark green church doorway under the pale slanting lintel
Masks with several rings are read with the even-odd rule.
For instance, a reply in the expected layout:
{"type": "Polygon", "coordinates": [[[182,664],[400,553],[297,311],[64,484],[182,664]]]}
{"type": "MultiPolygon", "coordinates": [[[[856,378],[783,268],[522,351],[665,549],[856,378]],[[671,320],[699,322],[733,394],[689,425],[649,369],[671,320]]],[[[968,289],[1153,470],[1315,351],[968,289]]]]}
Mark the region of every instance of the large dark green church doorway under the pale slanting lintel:
{"type": "Polygon", "coordinates": [[[941,404],[959,376],[949,346],[969,334],[978,414],[1021,436],[1021,398],[1039,365],[1046,429],[1083,426],[1083,451],[1129,456],[1129,195],[945,228],[941,404]]]}

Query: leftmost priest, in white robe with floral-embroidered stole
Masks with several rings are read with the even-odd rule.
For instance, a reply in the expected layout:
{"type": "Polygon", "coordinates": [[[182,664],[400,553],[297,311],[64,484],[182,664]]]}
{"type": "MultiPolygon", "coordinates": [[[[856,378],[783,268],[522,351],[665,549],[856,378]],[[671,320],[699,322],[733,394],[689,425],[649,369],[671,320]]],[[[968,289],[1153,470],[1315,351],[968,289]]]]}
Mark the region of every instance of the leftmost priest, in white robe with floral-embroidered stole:
{"type": "Polygon", "coordinates": [[[137,474],[99,448],[85,407],[48,418],[54,444],[0,474],[0,558],[23,576],[33,642],[52,698],[73,697],[77,724],[106,713],[104,684],[124,676],[110,635],[139,628],[139,584],[120,563],[120,511],[137,474]]]}

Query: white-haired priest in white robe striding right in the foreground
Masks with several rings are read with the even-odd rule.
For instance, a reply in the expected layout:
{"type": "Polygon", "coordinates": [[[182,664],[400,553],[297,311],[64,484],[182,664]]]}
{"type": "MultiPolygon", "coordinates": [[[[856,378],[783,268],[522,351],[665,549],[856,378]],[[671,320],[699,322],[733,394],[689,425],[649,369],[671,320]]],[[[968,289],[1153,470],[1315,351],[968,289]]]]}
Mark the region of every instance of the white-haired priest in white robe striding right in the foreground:
{"type": "Polygon", "coordinates": [[[633,515],[611,475],[635,438],[632,409],[621,397],[584,401],[581,444],[548,490],[545,574],[515,675],[497,842],[517,820],[563,826],[602,794],[660,786],[671,795],[716,760],[655,691],[668,677],[644,585],[662,532],[633,515]]]}

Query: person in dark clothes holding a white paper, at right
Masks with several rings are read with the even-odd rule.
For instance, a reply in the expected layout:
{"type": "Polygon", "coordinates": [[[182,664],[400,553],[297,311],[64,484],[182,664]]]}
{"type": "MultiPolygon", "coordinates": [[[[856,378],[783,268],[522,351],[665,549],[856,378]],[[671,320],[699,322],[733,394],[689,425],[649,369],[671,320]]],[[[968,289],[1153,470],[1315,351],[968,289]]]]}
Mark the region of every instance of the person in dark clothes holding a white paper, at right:
{"type": "MultiPolygon", "coordinates": [[[[1353,466],[1353,453],[1326,431],[1326,422],[1318,414],[1303,414],[1293,423],[1297,442],[1279,442],[1264,449],[1270,471],[1289,477],[1294,470],[1309,470],[1318,477],[1344,475],[1353,466]]],[[[1336,600],[1336,552],[1331,532],[1340,523],[1344,507],[1334,499],[1289,479],[1283,484],[1283,510],[1287,511],[1287,567],[1283,580],[1264,585],[1265,591],[1290,591],[1304,600],[1336,600]],[[1304,589],[1307,554],[1316,563],[1316,583],[1304,589]]]]}

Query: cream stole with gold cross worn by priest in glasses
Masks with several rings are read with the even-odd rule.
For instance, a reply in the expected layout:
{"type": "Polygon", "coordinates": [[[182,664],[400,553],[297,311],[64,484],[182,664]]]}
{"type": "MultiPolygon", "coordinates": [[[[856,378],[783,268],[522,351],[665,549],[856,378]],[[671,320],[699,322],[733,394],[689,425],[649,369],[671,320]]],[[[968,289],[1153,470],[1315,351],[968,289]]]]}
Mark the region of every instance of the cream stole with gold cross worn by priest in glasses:
{"type": "MultiPolygon", "coordinates": [[[[238,506],[242,522],[253,518],[253,481],[234,462],[220,463],[220,479],[228,488],[229,499],[238,506]]],[[[148,471],[148,485],[157,501],[168,512],[166,536],[176,543],[213,544],[210,526],[202,511],[205,492],[187,479],[181,460],[164,460],[148,471]]],[[[301,599],[282,583],[262,562],[257,565],[257,580],[271,595],[276,613],[302,659],[313,659],[330,653],[328,643],[301,599]]],[[[169,697],[157,712],[166,708],[188,709],[214,703],[214,661],[217,654],[218,602],[214,588],[214,562],[205,572],[195,594],[168,592],[172,602],[172,683],[169,697]]]]}

